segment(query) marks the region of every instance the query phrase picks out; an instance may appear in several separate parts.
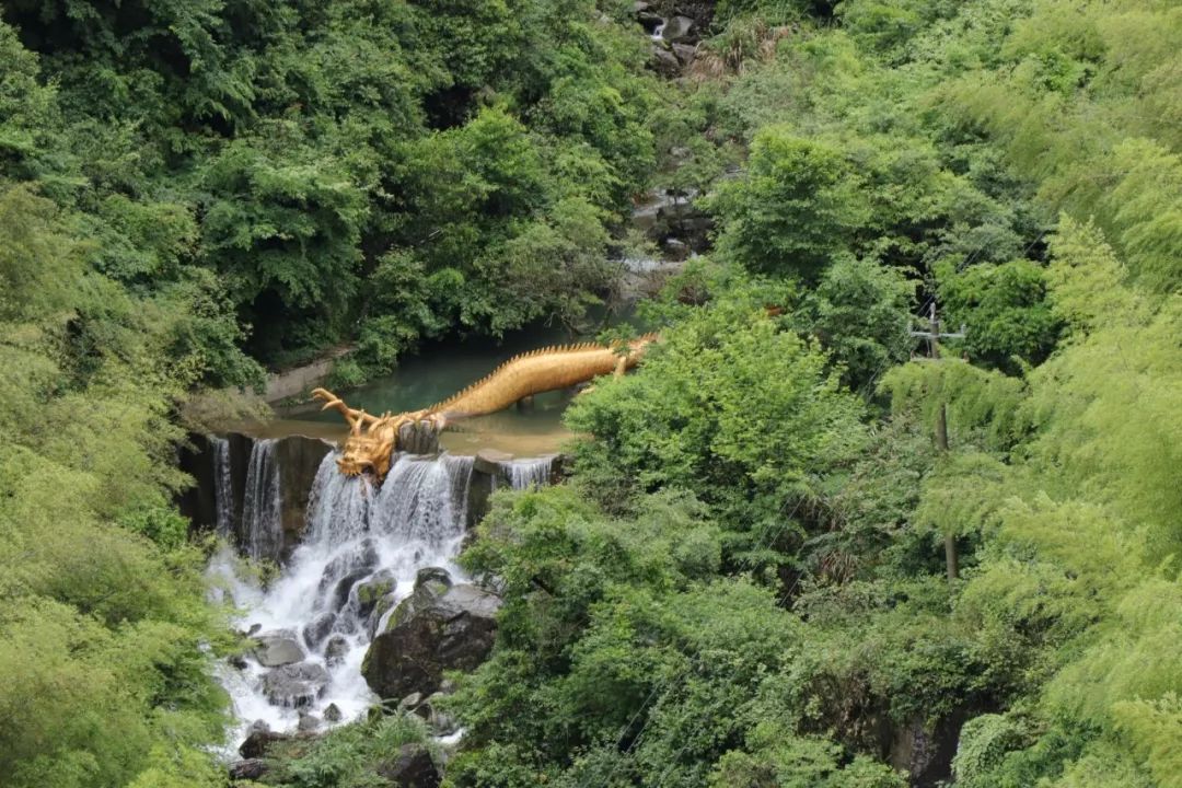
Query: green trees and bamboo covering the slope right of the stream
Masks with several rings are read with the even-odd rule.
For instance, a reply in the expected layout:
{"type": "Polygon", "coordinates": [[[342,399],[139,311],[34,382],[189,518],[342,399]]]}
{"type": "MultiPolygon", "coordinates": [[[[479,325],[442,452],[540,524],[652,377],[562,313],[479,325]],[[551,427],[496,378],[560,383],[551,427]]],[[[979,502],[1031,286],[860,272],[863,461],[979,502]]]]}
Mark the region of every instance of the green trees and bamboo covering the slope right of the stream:
{"type": "Polygon", "coordinates": [[[449,781],[1182,784],[1178,11],[717,11],[703,306],[466,554],[507,605],[449,781]],[[901,364],[931,300],[968,337],[901,364]]]}

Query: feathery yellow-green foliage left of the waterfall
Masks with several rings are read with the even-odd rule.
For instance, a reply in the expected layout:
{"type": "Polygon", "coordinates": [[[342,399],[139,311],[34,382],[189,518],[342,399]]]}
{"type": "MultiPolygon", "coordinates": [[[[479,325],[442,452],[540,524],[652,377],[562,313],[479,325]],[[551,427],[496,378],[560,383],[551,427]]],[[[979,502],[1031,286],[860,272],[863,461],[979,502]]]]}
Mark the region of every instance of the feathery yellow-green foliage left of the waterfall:
{"type": "Polygon", "coordinates": [[[71,217],[0,193],[0,769],[9,786],[195,786],[225,698],[202,555],[171,510],[162,364],[187,317],[100,272],[71,217]]]}

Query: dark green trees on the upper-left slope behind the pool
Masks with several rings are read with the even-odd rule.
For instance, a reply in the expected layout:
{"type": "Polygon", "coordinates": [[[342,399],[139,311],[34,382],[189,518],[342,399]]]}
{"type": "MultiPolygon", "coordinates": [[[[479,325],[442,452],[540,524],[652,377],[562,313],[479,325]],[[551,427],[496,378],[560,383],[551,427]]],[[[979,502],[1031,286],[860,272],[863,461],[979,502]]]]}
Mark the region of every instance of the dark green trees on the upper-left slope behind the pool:
{"type": "Polygon", "coordinates": [[[358,375],[579,320],[654,163],[641,37],[590,0],[322,5],[9,4],[5,100],[38,96],[8,177],[80,208],[116,281],[212,289],[213,383],[254,379],[240,331],[268,365],[356,344],[358,375]]]}

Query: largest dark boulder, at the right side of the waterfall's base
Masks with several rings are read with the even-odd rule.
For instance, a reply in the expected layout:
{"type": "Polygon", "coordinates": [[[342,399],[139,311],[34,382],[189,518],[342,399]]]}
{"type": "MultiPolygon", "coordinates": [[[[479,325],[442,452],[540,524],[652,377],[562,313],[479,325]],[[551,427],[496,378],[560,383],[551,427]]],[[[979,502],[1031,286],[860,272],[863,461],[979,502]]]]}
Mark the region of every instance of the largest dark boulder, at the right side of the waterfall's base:
{"type": "Polygon", "coordinates": [[[420,573],[414,593],[370,644],[362,664],[365,682],[382,698],[435,692],[443,671],[472,670],[488,656],[500,605],[500,598],[476,586],[444,586],[439,575],[420,573]]]}

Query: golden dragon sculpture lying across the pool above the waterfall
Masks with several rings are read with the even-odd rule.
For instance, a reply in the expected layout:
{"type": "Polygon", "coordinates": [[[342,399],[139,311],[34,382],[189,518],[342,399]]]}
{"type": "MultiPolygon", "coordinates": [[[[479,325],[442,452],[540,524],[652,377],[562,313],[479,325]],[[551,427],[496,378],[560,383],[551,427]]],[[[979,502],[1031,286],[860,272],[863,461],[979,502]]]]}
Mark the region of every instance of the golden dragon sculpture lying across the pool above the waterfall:
{"type": "Polygon", "coordinates": [[[656,334],[645,334],[628,343],[626,349],[582,343],[521,353],[443,402],[403,413],[374,416],[350,408],[324,389],[313,389],[312,396],[324,400],[322,410],[336,409],[349,423],[349,437],[337,460],[340,473],[348,476],[369,473],[381,483],[390,471],[400,432],[405,425],[428,424],[441,431],[459,419],[494,413],[544,391],[567,389],[600,375],[623,375],[636,366],[655,339],[656,334]]]}

